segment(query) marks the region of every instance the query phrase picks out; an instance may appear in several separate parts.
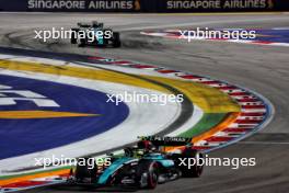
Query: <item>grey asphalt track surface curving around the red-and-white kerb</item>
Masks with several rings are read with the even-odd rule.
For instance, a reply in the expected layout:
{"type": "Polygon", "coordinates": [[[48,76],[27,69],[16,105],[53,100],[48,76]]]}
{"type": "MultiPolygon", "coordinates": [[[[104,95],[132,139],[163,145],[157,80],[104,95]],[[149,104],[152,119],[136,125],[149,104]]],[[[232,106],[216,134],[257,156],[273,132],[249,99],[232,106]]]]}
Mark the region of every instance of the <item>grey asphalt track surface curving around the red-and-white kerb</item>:
{"type": "MultiPolygon", "coordinates": [[[[154,191],[196,193],[286,193],[289,190],[289,47],[166,39],[140,35],[141,30],[174,27],[282,27],[289,14],[247,15],[97,15],[65,13],[0,13],[0,45],[58,53],[77,53],[130,59],[226,80],[266,96],[275,116],[263,130],[210,157],[255,157],[255,167],[233,170],[207,167],[200,179],[182,179],[154,191]],[[122,31],[119,49],[79,48],[68,42],[43,44],[33,39],[32,29],[73,26],[79,21],[101,20],[122,31]]],[[[85,192],[62,186],[26,192],[85,192]]]]}

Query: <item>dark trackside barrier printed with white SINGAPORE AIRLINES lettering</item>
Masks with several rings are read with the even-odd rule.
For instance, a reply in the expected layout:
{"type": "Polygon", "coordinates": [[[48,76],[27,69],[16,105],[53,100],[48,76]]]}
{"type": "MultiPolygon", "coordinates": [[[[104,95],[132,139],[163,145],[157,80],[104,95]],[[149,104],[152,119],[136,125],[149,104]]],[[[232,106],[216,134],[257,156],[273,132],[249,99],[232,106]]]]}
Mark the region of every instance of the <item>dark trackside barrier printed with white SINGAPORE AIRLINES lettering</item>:
{"type": "Polygon", "coordinates": [[[289,11],[289,0],[0,0],[0,11],[263,12],[289,11]]]}

